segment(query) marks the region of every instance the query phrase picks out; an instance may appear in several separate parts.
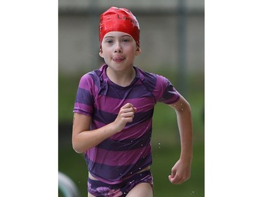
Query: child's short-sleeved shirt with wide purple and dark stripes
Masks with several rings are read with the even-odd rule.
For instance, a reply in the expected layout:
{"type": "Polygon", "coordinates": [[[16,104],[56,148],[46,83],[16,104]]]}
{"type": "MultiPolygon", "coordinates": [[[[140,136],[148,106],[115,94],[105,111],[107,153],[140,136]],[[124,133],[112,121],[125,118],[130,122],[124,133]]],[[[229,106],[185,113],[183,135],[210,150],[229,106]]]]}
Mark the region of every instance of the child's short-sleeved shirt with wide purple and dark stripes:
{"type": "Polygon", "coordinates": [[[93,117],[91,130],[112,123],[128,102],[137,108],[132,123],[85,152],[90,174],[108,184],[118,184],[151,165],[154,105],[156,102],[172,104],[180,99],[168,79],[134,68],[135,79],[122,87],[109,80],[107,64],[104,64],[82,76],[76,93],[73,111],[93,117]]]}

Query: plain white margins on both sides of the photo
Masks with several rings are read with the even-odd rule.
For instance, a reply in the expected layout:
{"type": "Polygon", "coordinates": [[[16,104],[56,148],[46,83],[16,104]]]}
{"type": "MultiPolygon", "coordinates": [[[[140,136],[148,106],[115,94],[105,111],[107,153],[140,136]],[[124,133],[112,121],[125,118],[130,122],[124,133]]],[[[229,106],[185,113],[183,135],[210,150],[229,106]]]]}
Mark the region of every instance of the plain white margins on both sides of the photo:
{"type": "MultiPolygon", "coordinates": [[[[259,3],[205,1],[205,196],[262,194],[259,3]]],[[[57,196],[58,2],[4,1],[0,22],[0,196],[57,196]]]]}

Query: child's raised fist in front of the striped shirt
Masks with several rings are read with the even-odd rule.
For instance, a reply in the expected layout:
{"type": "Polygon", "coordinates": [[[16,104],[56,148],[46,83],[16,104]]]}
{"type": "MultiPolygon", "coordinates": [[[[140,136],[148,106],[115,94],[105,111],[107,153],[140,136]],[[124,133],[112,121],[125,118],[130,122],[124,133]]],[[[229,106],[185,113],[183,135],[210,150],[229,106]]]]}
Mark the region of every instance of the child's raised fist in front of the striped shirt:
{"type": "Polygon", "coordinates": [[[121,132],[126,123],[131,123],[133,121],[133,117],[136,111],[136,107],[133,107],[133,104],[130,103],[127,103],[123,105],[123,107],[121,107],[119,114],[114,121],[117,132],[121,132]]]}

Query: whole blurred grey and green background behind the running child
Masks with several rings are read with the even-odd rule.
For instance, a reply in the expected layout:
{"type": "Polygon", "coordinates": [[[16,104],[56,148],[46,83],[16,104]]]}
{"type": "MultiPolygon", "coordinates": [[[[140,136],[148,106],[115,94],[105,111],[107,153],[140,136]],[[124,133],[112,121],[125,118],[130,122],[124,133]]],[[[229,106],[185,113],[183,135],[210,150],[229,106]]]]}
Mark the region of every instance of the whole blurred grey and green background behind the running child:
{"type": "MultiPolygon", "coordinates": [[[[204,5],[202,0],[61,0],[58,15],[58,170],[87,196],[88,171],[83,154],[72,149],[72,110],[79,79],[102,64],[98,20],[110,6],[128,8],[140,24],[142,54],[135,65],[166,76],[191,104],[194,157],[191,178],[170,184],[168,175],[180,156],[176,114],[166,104],[154,111],[154,197],[204,196],[204,5]]],[[[59,191],[59,196],[62,193],[59,191]]]]}

